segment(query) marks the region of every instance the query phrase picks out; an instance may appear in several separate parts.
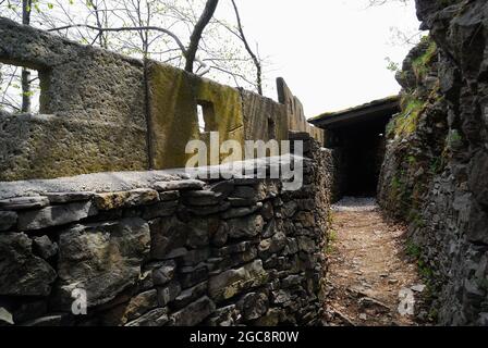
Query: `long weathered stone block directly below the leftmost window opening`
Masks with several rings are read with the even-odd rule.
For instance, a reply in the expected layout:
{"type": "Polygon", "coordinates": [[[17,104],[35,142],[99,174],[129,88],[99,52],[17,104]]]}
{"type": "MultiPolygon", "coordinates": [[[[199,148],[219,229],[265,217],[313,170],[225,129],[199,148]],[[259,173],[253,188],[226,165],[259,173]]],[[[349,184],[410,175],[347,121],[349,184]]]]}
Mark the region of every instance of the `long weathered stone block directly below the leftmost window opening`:
{"type": "Polygon", "coordinates": [[[0,114],[0,181],[147,169],[144,124],[77,116],[0,114]]]}

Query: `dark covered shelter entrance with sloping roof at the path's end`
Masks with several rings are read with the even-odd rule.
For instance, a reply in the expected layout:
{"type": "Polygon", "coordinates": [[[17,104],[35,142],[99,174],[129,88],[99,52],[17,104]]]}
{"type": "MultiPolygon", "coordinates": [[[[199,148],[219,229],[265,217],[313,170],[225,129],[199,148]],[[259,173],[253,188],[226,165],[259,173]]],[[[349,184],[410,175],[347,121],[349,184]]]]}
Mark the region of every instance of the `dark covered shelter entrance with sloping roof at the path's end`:
{"type": "Polygon", "coordinates": [[[325,146],[337,154],[337,199],[376,196],[386,126],[399,112],[399,102],[398,96],[388,97],[309,120],[325,129],[325,146]]]}

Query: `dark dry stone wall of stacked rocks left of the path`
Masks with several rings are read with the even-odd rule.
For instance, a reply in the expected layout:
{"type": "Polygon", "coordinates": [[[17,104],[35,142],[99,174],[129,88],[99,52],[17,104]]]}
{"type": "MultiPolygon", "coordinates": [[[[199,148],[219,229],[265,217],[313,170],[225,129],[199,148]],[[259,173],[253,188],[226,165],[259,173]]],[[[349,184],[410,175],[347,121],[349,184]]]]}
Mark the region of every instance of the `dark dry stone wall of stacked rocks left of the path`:
{"type": "Polygon", "coordinates": [[[0,325],[319,324],[331,157],[291,138],[296,191],[176,171],[3,183],[0,325]]]}

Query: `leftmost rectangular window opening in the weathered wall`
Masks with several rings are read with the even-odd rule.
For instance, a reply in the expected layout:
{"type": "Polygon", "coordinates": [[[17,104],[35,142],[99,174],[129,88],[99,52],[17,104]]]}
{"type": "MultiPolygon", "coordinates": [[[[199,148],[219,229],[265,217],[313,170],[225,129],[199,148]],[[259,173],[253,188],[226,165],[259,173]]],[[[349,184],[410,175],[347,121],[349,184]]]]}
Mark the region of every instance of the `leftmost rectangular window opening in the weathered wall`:
{"type": "Polygon", "coordinates": [[[39,72],[0,63],[0,111],[11,114],[37,114],[39,109],[39,72]]]}

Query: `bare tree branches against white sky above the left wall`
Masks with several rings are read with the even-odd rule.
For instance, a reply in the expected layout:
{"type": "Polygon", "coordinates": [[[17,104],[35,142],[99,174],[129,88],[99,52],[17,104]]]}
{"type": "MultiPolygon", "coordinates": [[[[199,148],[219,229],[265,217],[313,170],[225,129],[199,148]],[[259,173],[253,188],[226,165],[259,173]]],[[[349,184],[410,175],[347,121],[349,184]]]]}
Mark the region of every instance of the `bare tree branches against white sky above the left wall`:
{"type": "MultiPolygon", "coordinates": [[[[84,45],[263,92],[263,60],[251,50],[235,1],[0,0],[0,12],[84,45]],[[234,10],[236,17],[219,18],[216,10],[222,5],[234,10]]],[[[0,74],[0,100],[8,87],[4,75],[0,74]]]]}

